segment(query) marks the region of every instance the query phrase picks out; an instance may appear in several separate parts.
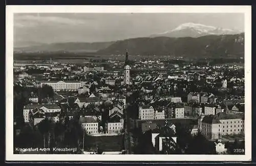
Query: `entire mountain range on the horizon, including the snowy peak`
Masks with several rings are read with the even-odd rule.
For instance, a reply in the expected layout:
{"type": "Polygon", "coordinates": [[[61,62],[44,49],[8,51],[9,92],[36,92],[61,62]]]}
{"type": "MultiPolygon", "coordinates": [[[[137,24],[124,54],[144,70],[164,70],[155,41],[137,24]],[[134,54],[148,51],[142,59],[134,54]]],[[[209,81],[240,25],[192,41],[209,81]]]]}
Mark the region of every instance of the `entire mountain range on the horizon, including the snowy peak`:
{"type": "Polygon", "coordinates": [[[14,52],[94,52],[99,55],[244,56],[244,33],[236,30],[184,23],[177,28],[150,37],[111,42],[66,42],[34,44],[14,48],[14,52]]]}

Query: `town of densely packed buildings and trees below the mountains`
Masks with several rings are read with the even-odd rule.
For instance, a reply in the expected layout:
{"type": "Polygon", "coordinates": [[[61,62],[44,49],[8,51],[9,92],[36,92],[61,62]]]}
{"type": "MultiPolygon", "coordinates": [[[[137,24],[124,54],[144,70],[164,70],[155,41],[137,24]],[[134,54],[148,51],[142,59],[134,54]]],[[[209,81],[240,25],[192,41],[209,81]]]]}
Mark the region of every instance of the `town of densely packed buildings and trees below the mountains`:
{"type": "Polygon", "coordinates": [[[47,154],[244,154],[243,65],[134,60],[127,50],[121,57],[14,61],[14,147],[77,149],[41,152],[47,154]]]}

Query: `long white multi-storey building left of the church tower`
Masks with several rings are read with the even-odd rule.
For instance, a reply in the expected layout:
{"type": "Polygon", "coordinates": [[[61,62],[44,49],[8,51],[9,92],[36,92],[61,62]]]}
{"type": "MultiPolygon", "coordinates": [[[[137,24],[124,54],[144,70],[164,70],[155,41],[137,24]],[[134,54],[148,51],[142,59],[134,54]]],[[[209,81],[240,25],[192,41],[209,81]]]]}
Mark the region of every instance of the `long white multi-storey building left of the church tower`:
{"type": "Polygon", "coordinates": [[[69,90],[76,91],[79,87],[81,87],[81,82],[79,81],[41,81],[40,87],[43,85],[49,85],[53,88],[54,91],[60,90],[69,90]]]}

